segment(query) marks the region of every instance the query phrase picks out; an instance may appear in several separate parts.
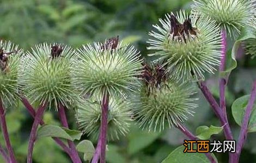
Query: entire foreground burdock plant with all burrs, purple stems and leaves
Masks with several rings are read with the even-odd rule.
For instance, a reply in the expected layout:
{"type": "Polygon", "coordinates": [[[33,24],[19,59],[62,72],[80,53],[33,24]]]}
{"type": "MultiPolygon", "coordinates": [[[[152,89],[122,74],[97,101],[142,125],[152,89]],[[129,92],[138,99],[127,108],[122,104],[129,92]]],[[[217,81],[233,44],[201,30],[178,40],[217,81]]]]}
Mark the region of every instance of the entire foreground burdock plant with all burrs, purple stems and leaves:
{"type": "MultiPolygon", "coordinates": [[[[153,131],[176,127],[193,141],[208,140],[222,130],[225,140],[234,140],[226,111],[225,87],[230,72],[237,65],[235,55],[242,41],[250,38],[245,42],[246,52],[255,56],[254,4],[254,0],[195,0],[192,14],[170,12],[160,18],[160,24],[154,25],[149,33],[149,55],[155,58],[150,64],[142,62],[135,47],[119,42],[119,37],[83,45],[76,51],[58,43],[43,43],[26,55],[12,43],[1,41],[0,123],[8,153],[1,145],[0,153],[5,161],[16,162],[5,111],[13,107],[18,98],[34,117],[28,143],[28,163],[32,162],[35,140],[42,135],[53,136],[72,162],[82,162],[78,151],[89,160],[88,153],[92,155],[93,144],[86,140],[75,146],[72,140],[80,139],[82,133],[69,129],[65,115],[68,108],[76,108],[77,124],[83,133],[97,139],[92,163],[97,163],[99,158],[101,163],[106,162],[107,139],[126,135],[132,120],[142,129],[153,131]],[[253,28],[254,35],[246,26],[253,28]],[[238,38],[231,55],[227,55],[227,34],[233,39],[238,38]],[[217,66],[220,71],[219,102],[203,81],[206,73],[215,73],[217,66]],[[221,124],[221,127],[199,127],[197,136],[183,124],[196,114],[193,111],[197,107],[195,85],[221,124]],[[29,101],[39,104],[39,108],[35,111],[29,101]],[[42,116],[47,107],[58,111],[63,127],[42,126],[40,134],[38,126],[44,125],[42,116]]],[[[255,118],[251,117],[255,101],[256,81],[251,95],[237,99],[231,107],[241,130],[235,153],[229,153],[230,163],[239,162],[247,133],[255,131],[255,118]]],[[[180,162],[184,156],[180,156],[183,153],[178,149],[174,154],[175,158],[170,154],[163,162],[180,162]]],[[[205,161],[206,158],[198,154],[190,156],[205,161]]],[[[210,162],[217,162],[213,154],[205,155],[210,162]]]]}

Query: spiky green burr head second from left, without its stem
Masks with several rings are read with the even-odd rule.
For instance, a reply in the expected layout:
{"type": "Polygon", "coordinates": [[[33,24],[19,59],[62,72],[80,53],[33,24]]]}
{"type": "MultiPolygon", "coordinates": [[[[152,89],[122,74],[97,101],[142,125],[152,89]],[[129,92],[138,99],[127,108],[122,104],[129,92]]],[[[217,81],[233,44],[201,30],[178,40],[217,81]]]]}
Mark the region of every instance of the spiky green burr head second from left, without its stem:
{"type": "MultiPolygon", "coordinates": [[[[27,52],[23,64],[23,91],[32,102],[48,102],[57,109],[59,103],[70,106],[77,98],[71,84],[74,50],[65,45],[36,45],[27,52]]],[[[69,108],[69,107],[68,107],[69,108]]]]}

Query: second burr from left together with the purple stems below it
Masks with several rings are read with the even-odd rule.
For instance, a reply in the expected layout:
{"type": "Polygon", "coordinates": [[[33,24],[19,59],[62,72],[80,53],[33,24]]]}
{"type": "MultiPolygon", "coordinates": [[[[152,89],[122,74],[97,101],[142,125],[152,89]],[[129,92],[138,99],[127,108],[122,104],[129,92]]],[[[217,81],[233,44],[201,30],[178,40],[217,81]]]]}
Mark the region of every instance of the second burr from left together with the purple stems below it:
{"type": "MultiPolygon", "coordinates": [[[[36,129],[41,122],[47,106],[54,106],[59,112],[63,127],[68,128],[65,108],[76,101],[77,95],[71,84],[71,60],[74,50],[65,45],[47,43],[32,48],[24,57],[21,78],[22,92],[40,106],[35,114],[35,120],[29,137],[27,162],[32,162],[32,152],[36,139],[36,129]]],[[[81,162],[73,142],[68,141],[71,148],[71,159],[81,162]]]]}

